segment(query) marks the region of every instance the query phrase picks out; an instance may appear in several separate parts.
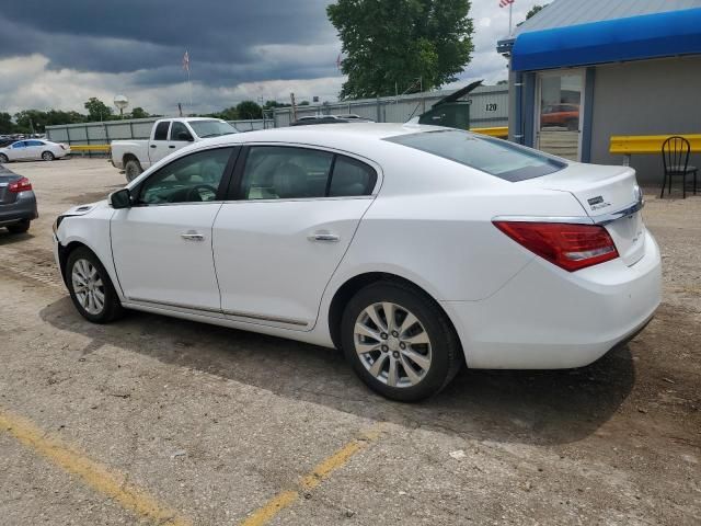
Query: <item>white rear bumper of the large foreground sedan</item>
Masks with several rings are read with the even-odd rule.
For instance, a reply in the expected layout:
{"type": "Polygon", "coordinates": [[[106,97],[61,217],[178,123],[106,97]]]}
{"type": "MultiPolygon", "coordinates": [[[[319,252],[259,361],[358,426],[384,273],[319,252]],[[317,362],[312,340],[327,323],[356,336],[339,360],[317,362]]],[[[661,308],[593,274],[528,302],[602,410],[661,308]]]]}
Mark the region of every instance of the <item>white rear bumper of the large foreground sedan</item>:
{"type": "Polygon", "coordinates": [[[632,266],[619,258],[567,273],[535,258],[490,298],[443,301],[468,366],[582,367],[634,336],[662,297],[659,249],[645,236],[645,254],[632,266]]]}

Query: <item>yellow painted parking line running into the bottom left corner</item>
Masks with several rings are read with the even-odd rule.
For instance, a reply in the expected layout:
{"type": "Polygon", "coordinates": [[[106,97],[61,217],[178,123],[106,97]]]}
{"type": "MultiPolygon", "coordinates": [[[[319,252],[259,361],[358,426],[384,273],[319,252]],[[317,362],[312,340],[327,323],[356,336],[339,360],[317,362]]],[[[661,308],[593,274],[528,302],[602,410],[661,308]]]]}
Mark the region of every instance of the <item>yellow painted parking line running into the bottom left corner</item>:
{"type": "Polygon", "coordinates": [[[0,408],[0,432],[5,431],[33,451],[42,455],[73,476],[85,485],[117,502],[122,507],[159,525],[189,526],[192,523],[173,510],[161,505],[147,491],[127,483],[119,471],[89,459],[49,436],[30,421],[0,408]]]}

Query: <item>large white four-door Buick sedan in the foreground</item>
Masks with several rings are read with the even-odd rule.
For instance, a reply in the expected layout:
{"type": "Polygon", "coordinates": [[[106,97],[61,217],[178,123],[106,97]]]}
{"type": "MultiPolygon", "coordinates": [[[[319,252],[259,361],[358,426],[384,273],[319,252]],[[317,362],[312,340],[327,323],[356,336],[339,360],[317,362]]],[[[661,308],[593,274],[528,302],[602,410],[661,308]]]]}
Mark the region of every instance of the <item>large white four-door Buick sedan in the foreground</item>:
{"type": "MultiPolygon", "coordinates": [[[[473,368],[587,365],[660,300],[627,167],[456,129],[209,139],[55,224],[78,311],[157,312],[342,348],[397,400],[473,368]]],[[[232,338],[235,338],[232,336],[232,338]]]]}

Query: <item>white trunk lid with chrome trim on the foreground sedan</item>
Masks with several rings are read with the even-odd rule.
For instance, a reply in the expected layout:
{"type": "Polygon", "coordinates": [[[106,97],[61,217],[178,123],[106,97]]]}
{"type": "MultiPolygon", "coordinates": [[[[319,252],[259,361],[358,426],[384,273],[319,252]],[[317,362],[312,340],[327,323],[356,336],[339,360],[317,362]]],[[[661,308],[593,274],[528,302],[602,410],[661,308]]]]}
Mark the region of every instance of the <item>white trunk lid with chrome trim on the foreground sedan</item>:
{"type": "Polygon", "coordinates": [[[608,230],[627,265],[633,265],[645,253],[643,194],[635,170],[571,163],[559,172],[519,184],[571,193],[587,216],[608,230]]]}

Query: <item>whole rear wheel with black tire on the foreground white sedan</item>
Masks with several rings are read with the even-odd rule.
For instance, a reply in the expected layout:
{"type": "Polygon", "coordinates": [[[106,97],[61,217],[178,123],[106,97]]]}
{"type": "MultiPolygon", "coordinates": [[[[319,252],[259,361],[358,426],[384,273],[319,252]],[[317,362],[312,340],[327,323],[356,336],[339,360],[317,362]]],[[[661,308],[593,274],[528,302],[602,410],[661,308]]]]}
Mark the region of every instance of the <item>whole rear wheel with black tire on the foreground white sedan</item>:
{"type": "Polygon", "coordinates": [[[377,282],[360,289],[344,310],[341,342],[370,389],[402,402],[436,395],[463,362],[458,336],[438,304],[403,283],[377,282]]]}

